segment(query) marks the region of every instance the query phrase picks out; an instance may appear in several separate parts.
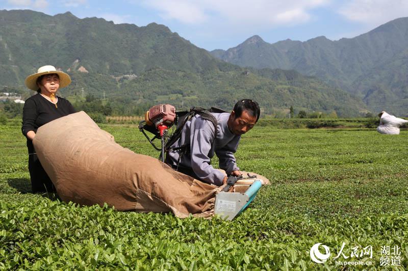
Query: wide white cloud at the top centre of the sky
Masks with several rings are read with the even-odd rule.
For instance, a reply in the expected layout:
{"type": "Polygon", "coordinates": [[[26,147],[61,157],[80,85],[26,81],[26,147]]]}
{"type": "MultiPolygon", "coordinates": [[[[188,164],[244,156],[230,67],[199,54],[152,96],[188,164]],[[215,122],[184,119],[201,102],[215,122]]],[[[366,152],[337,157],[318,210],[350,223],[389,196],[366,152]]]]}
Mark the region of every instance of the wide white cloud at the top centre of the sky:
{"type": "Polygon", "coordinates": [[[194,24],[224,20],[233,25],[262,25],[267,27],[296,24],[311,19],[310,10],[329,0],[153,0],[144,5],[158,10],[164,19],[194,24]]]}

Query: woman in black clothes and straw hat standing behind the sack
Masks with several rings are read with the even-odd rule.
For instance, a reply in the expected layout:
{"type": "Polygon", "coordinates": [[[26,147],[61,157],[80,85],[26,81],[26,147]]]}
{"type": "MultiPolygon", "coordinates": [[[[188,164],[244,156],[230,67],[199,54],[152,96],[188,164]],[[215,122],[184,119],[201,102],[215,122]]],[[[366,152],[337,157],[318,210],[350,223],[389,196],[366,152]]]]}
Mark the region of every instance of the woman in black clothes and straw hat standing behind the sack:
{"type": "Polygon", "coordinates": [[[25,78],[25,85],[37,91],[36,95],[24,103],[22,114],[22,133],[27,137],[29,150],[29,171],[33,193],[54,192],[54,186],[37,158],[33,138],[37,129],[62,116],[75,113],[71,103],[56,96],[58,89],[71,83],[68,74],[57,71],[54,66],[43,66],[38,72],[25,78]]]}

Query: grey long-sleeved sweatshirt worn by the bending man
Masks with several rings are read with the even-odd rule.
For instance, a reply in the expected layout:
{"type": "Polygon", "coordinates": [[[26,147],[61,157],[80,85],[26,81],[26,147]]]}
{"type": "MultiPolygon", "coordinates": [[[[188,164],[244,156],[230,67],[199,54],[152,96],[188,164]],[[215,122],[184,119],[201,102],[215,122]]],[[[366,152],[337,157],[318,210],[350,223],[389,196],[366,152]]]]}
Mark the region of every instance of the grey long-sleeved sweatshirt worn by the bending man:
{"type": "MultiPolygon", "coordinates": [[[[225,176],[210,165],[214,153],[219,159],[219,167],[227,173],[239,170],[234,156],[241,136],[234,135],[227,126],[230,113],[211,113],[217,119],[217,135],[214,135],[212,122],[196,114],[188,121],[182,130],[179,140],[171,146],[179,147],[190,143],[190,152],[182,155],[180,166],[191,168],[194,173],[205,182],[217,186],[222,185],[225,176]],[[215,140],[215,142],[214,142],[215,140]]],[[[180,150],[170,150],[169,157],[173,165],[177,164],[180,150]]]]}

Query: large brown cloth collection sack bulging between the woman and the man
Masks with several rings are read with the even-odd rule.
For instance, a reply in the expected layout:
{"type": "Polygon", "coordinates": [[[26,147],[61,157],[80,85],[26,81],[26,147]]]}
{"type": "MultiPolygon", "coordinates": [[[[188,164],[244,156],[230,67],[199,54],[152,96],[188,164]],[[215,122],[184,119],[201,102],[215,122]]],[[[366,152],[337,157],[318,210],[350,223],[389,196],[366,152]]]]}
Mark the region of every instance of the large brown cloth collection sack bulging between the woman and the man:
{"type": "Polygon", "coordinates": [[[211,217],[221,188],[176,172],[115,143],[83,111],[37,131],[34,147],[64,201],[136,212],[211,217]]]}

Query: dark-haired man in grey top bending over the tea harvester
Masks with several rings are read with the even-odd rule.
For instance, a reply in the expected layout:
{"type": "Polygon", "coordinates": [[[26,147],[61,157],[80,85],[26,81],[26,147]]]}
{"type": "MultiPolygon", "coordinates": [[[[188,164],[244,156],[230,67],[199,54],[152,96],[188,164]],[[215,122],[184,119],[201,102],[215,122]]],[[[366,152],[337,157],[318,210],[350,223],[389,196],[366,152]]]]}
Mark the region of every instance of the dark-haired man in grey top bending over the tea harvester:
{"type": "Polygon", "coordinates": [[[260,108],[256,101],[238,101],[231,113],[211,113],[217,121],[217,131],[211,121],[199,114],[183,127],[181,137],[171,145],[166,163],[173,169],[203,182],[221,186],[227,175],[211,166],[210,159],[217,155],[219,167],[227,174],[240,176],[234,153],[241,135],[258,122],[260,108]],[[187,145],[185,149],[177,149],[187,145]]]}

